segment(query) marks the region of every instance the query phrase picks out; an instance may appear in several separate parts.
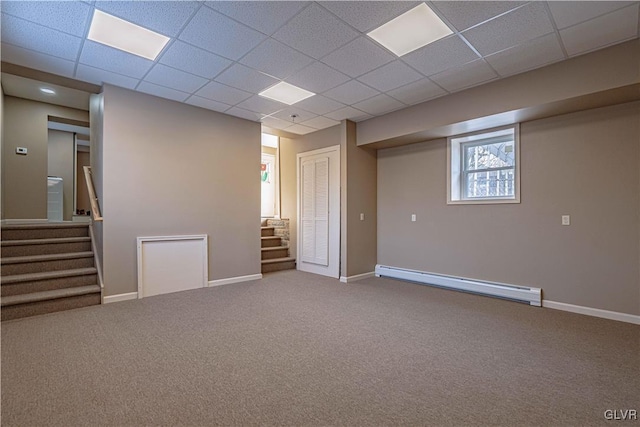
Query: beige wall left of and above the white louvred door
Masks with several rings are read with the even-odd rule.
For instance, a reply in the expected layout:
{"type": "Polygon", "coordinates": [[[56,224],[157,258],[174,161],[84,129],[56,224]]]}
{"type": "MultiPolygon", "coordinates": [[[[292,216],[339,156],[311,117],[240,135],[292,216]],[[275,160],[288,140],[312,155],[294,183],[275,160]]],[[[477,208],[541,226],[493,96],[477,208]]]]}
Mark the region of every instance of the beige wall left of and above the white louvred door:
{"type": "Polygon", "coordinates": [[[340,135],[340,126],[333,126],[295,139],[280,137],[280,215],[282,218],[289,218],[290,220],[289,256],[296,257],[298,242],[297,155],[307,151],[340,145],[340,135]]]}

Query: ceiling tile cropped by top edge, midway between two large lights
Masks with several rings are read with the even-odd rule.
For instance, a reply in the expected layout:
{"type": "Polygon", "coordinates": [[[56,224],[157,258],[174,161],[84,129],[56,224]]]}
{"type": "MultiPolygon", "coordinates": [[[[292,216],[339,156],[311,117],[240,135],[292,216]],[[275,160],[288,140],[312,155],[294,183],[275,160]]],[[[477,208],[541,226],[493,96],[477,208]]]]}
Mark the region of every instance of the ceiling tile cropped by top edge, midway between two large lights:
{"type": "Polygon", "coordinates": [[[309,2],[305,1],[208,1],[205,4],[262,33],[272,34],[309,2]]]}

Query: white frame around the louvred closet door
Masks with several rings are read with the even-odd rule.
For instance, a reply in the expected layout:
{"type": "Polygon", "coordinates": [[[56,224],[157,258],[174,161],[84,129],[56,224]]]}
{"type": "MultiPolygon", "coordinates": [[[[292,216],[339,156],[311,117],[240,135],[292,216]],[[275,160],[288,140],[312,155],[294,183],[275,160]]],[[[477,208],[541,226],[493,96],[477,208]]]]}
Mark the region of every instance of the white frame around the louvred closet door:
{"type": "Polygon", "coordinates": [[[296,245],[297,245],[297,262],[296,269],[300,271],[306,271],[314,274],[321,274],[336,279],[340,278],[340,233],[341,233],[341,200],[340,200],[340,186],[341,186],[341,169],[340,169],[340,145],[333,145],[331,147],[320,148],[312,151],[305,151],[304,153],[298,153],[296,156],[296,245]],[[309,271],[307,269],[300,268],[302,265],[302,252],[301,252],[301,175],[300,165],[302,159],[305,157],[316,156],[318,154],[335,153],[335,167],[332,167],[329,163],[329,266],[326,272],[321,271],[309,271]],[[336,182],[337,185],[331,185],[331,182],[336,182]],[[333,200],[333,203],[331,202],[333,200]],[[335,206],[335,207],[334,207],[335,206]]]}

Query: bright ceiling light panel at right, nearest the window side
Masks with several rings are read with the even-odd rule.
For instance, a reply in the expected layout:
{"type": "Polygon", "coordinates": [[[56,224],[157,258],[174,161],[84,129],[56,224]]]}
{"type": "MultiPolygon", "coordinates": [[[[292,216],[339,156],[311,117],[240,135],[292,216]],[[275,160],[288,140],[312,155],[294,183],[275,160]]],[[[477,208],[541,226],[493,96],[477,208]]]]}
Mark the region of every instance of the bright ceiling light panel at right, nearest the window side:
{"type": "Polygon", "coordinates": [[[421,3],[367,35],[402,56],[452,33],[429,6],[421,3]]]}

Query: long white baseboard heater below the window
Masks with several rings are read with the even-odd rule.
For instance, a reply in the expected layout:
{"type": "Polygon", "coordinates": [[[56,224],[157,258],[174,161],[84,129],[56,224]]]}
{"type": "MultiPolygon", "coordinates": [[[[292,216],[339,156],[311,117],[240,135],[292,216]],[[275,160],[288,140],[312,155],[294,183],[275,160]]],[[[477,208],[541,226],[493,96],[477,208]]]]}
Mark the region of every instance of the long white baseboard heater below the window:
{"type": "Polygon", "coordinates": [[[423,285],[504,298],[524,302],[538,307],[542,306],[542,289],[540,288],[529,288],[525,286],[465,279],[462,277],[443,276],[441,274],[407,270],[404,268],[389,267],[380,264],[376,265],[376,276],[407,280],[409,282],[416,282],[423,285]]]}

